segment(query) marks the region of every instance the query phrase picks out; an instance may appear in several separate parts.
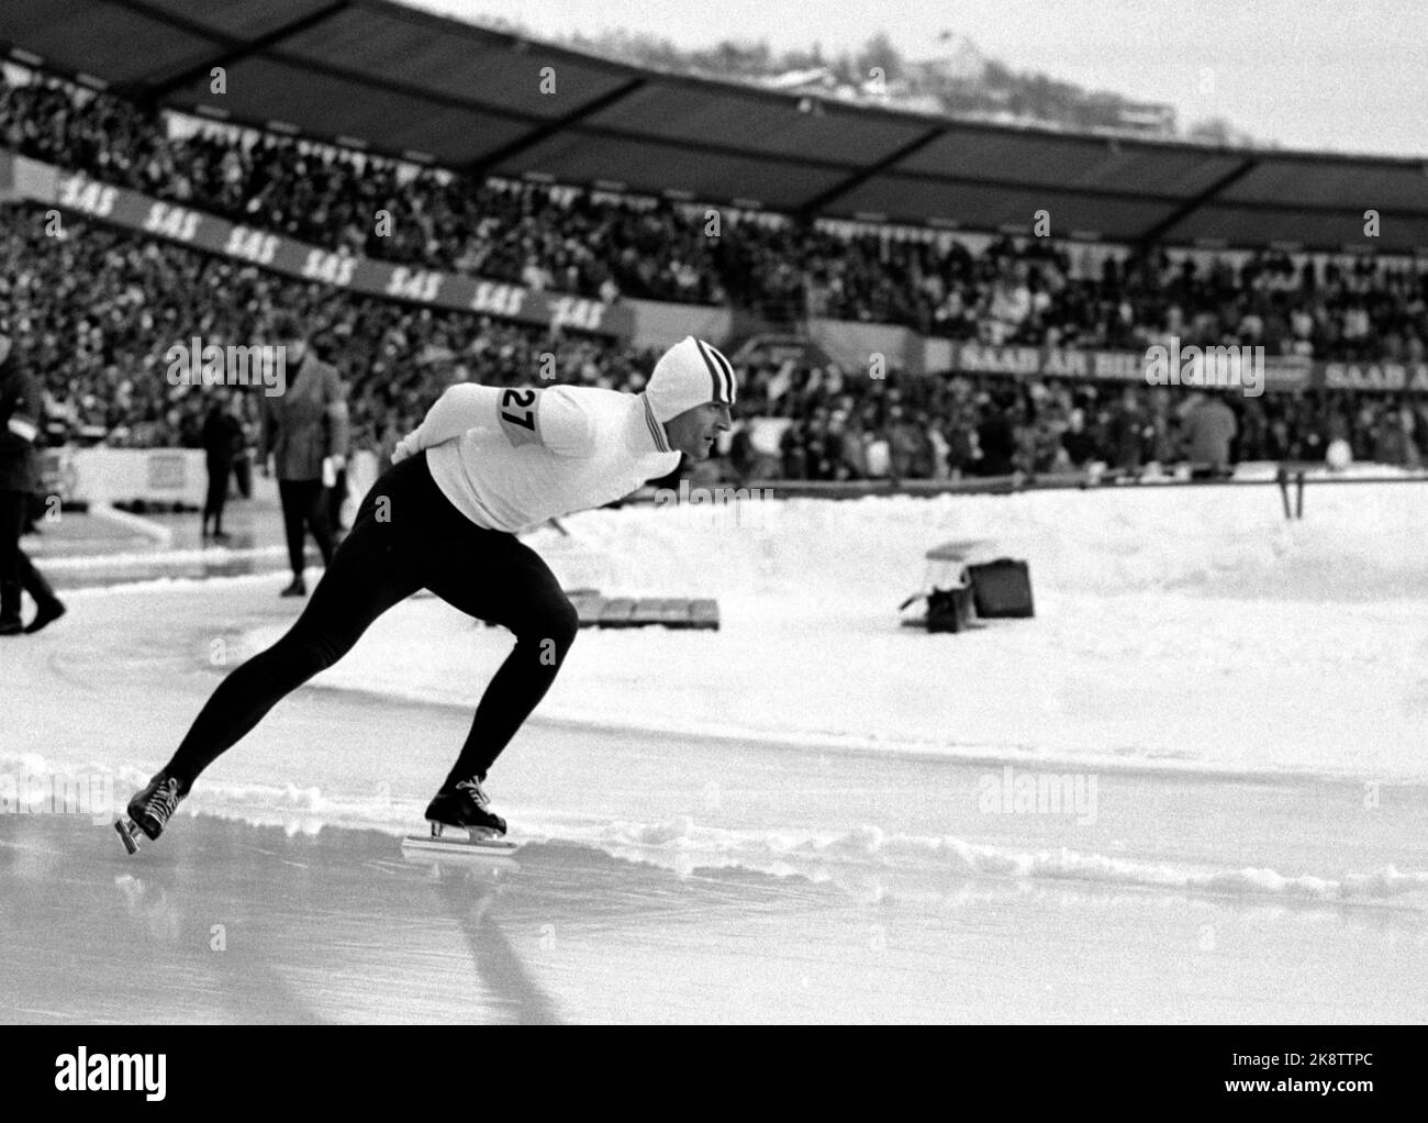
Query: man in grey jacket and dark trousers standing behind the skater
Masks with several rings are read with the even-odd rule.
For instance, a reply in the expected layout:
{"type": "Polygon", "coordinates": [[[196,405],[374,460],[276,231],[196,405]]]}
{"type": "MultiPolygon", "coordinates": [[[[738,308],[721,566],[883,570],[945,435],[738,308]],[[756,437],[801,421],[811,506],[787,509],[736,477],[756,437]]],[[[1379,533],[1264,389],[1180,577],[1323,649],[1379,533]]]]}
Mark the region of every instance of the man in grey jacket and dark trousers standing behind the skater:
{"type": "Polygon", "coordinates": [[[347,403],[337,369],[317,357],[296,324],[288,326],[284,337],[287,386],[280,396],[263,399],[261,457],[267,473],[277,471],[283,501],[287,557],[293,567],[293,583],[283,596],[301,597],[307,596],[303,580],[307,531],[317,539],[323,564],[333,560],[323,464],[346,466],[347,403]]]}

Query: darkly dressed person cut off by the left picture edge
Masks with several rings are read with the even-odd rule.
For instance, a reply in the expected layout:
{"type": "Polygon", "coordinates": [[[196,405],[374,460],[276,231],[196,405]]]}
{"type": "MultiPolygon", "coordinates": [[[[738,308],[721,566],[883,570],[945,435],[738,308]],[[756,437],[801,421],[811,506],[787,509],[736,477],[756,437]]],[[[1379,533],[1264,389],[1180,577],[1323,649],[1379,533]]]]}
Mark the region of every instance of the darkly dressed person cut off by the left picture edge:
{"type": "Polygon", "coordinates": [[[40,387],[11,354],[10,324],[0,319],[0,636],[34,633],[64,614],[64,604],[20,549],[30,493],[40,486],[40,387]],[[20,619],[21,590],[34,597],[30,626],[20,619]]]}

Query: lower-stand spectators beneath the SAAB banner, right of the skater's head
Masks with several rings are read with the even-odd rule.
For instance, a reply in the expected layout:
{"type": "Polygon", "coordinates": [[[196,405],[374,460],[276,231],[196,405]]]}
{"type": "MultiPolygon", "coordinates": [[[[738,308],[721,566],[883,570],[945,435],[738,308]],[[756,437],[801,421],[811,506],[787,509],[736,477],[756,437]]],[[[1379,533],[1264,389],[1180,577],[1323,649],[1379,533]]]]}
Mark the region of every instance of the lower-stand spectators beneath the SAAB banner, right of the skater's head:
{"type": "MultiPolygon", "coordinates": [[[[755,373],[755,383],[761,374],[755,373]]],[[[788,419],[777,463],[735,441],[730,474],[797,480],[1140,474],[1194,461],[1194,417],[1207,396],[1161,387],[1004,376],[890,379],[771,403],[788,419]]],[[[1342,440],[1357,460],[1428,463],[1428,403],[1347,391],[1222,396],[1235,417],[1230,461],[1322,461],[1342,440]]]]}

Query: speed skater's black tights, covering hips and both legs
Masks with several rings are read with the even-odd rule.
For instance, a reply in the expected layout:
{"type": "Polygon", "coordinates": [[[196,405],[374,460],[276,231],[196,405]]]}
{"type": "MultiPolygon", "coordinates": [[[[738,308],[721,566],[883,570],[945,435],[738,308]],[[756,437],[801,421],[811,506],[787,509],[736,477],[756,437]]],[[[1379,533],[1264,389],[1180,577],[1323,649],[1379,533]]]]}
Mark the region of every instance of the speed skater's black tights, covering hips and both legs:
{"type": "Polygon", "coordinates": [[[169,770],[187,790],[278,699],[347,654],[373,620],[423,587],[516,636],[447,784],[484,779],[555,680],[580,623],[540,556],[514,534],[466,519],[437,489],[424,454],[373,484],[297,623],[218,684],[169,770]]]}

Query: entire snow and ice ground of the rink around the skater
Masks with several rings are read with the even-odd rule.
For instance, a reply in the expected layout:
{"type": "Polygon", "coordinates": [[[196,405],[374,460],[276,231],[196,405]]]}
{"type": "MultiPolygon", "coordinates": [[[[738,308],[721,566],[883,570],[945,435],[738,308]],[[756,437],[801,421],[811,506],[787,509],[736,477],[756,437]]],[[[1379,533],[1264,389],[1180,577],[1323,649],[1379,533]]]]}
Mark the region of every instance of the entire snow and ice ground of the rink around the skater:
{"type": "Polygon", "coordinates": [[[0,652],[0,773],[93,793],[0,814],[0,1020],[1421,1022],[1419,489],[1311,489],[1302,526],[1237,491],[573,520],[537,547],[567,586],[715,594],[724,627],[580,637],[493,772],[504,863],[400,849],[508,647],[434,600],[127,857],[106,784],[294,609],[271,573],[74,592],[0,652]],[[1035,620],[897,629],[915,546],[997,530],[1035,620]]]}

